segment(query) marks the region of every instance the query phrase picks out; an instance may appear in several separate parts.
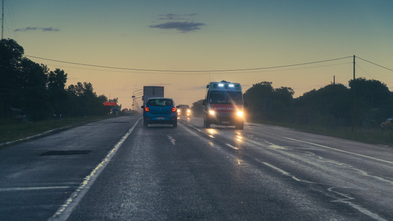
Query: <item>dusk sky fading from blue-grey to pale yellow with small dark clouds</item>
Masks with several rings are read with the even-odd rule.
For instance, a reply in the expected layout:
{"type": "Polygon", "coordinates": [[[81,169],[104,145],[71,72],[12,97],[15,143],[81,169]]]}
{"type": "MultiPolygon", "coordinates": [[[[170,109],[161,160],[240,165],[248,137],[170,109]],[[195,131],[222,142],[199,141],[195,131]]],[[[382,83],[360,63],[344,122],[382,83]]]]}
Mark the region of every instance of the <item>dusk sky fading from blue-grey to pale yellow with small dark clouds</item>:
{"type": "MultiPolygon", "coordinates": [[[[393,69],[393,1],[6,0],[4,38],[25,55],[125,69],[256,69],[356,55],[393,69]]],[[[68,73],[67,84],[130,108],[144,85],[177,104],[204,98],[209,72],[127,71],[32,58],[68,73]],[[93,70],[94,69],[94,70],[93,70]]],[[[210,72],[210,81],[288,86],[295,97],[353,78],[353,58],[254,71],[210,72]],[[333,65],[336,64],[336,65],[333,65]],[[329,65],[329,66],[328,66],[329,65]],[[321,67],[323,66],[323,67],[321,67]]],[[[393,72],[357,58],[356,76],[393,89],[393,72]]]]}

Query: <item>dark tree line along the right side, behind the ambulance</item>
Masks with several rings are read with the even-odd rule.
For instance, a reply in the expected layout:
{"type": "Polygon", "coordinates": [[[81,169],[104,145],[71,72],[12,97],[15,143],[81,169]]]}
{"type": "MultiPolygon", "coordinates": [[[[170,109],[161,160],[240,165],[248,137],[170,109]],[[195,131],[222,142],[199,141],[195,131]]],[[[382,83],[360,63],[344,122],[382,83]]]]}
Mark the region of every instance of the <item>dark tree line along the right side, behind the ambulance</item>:
{"type": "MultiPolygon", "coordinates": [[[[377,126],[393,117],[393,93],[385,83],[362,77],[343,84],[328,84],[293,98],[291,87],[273,88],[272,82],[253,84],[243,94],[250,120],[318,124],[325,126],[377,126]],[[354,94],[355,88],[355,94],[354,94]]],[[[203,114],[203,99],[192,104],[195,116],[203,114]]]]}

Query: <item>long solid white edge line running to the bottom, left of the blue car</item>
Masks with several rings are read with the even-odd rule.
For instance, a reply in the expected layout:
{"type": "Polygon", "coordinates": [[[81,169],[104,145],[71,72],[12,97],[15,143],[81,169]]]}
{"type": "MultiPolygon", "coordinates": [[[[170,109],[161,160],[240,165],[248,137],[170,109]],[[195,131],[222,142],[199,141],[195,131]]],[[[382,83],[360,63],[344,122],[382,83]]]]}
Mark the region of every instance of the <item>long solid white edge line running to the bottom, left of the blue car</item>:
{"type": "Polygon", "coordinates": [[[131,134],[134,130],[135,126],[142,118],[139,118],[134,125],[128,130],[128,132],[120,139],[120,141],[112,148],[111,151],[108,152],[106,157],[102,160],[97,167],[84,178],[83,183],[71,194],[71,196],[64,202],[63,205],[56,211],[56,213],[49,218],[49,221],[58,221],[58,220],[67,220],[68,217],[71,215],[72,211],[78,206],[79,202],[82,200],[84,194],[89,191],[90,187],[93,185],[94,181],[96,181],[97,177],[100,175],[102,170],[108,165],[111,161],[115,153],[120,148],[120,146],[124,143],[127,137],[131,134]]]}

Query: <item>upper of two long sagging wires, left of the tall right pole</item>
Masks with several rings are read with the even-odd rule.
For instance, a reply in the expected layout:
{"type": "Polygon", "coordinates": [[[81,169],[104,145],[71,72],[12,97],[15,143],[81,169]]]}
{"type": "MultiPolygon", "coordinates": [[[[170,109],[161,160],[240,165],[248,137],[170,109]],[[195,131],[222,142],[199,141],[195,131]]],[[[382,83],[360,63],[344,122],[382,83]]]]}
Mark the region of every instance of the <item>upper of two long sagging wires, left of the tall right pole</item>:
{"type": "MultiPolygon", "coordinates": [[[[170,70],[148,70],[148,69],[115,68],[115,67],[105,67],[105,66],[100,66],[100,65],[82,64],[82,63],[75,63],[75,62],[68,62],[68,61],[52,60],[52,59],[40,58],[40,57],[35,57],[35,56],[30,56],[30,55],[25,55],[25,56],[27,56],[27,57],[33,57],[33,58],[38,58],[38,59],[43,59],[43,60],[50,60],[50,61],[62,62],[62,63],[71,63],[71,64],[78,64],[78,65],[91,66],[91,67],[98,67],[98,68],[108,68],[108,69],[121,69],[121,70],[134,70],[134,71],[157,71],[157,72],[209,72],[209,70],[208,70],[208,71],[170,71],[170,70]]],[[[277,66],[277,67],[255,68],[255,69],[214,70],[214,71],[210,70],[210,72],[249,71],[249,70],[261,70],[261,69],[284,68],[284,67],[291,67],[291,66],[297,66],[297,65],[304,65],[304,64],[312,64],[312,63],[320,63],[320,62],[326,62],[326,61],[333,61],[333,60],[339,60],[339,59],[350,58],[350,57],[352,57],[352,56],[343,57],[343,58],[336,58],[336,59],[330,59],[330,60],[323,60],[323,61],[308,62],[308,63],[282,65],[282,66],[277,66]]]]}

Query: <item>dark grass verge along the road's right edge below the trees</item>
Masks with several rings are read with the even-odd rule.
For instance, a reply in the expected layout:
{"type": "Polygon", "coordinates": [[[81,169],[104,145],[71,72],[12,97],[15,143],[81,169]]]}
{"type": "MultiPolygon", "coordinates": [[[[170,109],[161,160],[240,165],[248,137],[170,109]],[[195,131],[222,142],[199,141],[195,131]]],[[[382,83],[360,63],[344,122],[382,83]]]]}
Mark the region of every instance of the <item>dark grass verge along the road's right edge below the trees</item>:
{"type": "Polygon", "coordinates": [[[388,129],[382,131],[381,128],[367,128],[355,127],[354,132],[351,132],[352,127],[337,126],[337,127],[322,127],[320,125],[308,124],[292,124],[285,122],[261,121],[251,120],[249,123],[261,123],[273,126],[281,126],[309,132],[311,134],[324,135],[328,137],[342,138],[346,140],[358,141],[369,144],[379,144],[393,147],[393,131],[388,129]]]}

